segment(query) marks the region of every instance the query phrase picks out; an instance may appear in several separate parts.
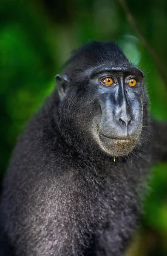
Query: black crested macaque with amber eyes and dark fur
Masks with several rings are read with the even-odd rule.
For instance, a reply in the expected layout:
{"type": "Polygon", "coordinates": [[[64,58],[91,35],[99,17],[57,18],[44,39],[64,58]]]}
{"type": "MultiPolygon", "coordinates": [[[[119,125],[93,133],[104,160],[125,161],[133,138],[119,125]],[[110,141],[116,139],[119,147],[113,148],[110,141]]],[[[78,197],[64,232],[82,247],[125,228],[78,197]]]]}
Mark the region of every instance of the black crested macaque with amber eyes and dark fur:
{"type": "Polygon", "coordinates": [[[122,256],[167,125],[114,43],[76,50],[31,119],[3,182],[0,256],[122,256]]]}

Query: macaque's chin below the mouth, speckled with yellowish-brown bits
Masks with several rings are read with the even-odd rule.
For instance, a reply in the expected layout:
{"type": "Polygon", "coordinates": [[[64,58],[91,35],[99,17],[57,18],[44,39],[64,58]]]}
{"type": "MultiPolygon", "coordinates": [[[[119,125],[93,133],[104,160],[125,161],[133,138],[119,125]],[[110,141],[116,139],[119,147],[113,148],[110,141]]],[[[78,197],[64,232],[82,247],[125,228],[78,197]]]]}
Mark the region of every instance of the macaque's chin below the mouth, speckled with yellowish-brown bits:
{"type": "Polygon", "coordinates": [[[136,140],[127,138],[126,140],[112,139],[104,135],[99,135],[100,147],[103,151],[113,157],[123,157],[133,151],[136,140]]]}

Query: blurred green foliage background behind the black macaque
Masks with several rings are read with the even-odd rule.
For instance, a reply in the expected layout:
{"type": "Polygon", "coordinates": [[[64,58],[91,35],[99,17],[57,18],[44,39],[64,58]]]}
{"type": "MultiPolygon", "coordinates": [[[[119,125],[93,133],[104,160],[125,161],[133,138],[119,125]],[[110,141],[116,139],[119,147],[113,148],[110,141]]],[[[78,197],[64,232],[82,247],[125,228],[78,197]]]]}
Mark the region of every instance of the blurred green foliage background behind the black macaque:
{"type": "MultiPolygon", "coordinates": [[[[166,72],[167,0],[127,0],[127,6],[166,72]]],[[[71,50],[85,42],[117,41],[146,74],[152,116],[167,120],[164,79],[140,39],[117,0],[1,0],[1,178],[18,134],[53,90],[54,76],[71,50]]],[[[167,163],[153,167],[150,187],[128,256],[167,255],[167,163]]]]}

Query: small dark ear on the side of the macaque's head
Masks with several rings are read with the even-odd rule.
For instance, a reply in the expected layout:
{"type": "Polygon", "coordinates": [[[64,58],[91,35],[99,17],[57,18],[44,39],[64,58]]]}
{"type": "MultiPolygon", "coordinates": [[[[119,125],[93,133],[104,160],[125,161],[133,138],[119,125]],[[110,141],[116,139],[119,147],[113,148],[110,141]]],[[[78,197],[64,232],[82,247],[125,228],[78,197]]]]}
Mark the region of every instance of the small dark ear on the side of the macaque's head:
{"type": "Polygon", "coordinates": [[[60,96],[60,99],[62,100],[65,96],[65,90],[67,88],[69,79],[65,74],[58,74],[55,76],[55,79],[57,81],[57,89],[60,96]]]}

